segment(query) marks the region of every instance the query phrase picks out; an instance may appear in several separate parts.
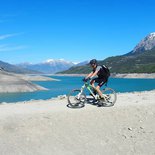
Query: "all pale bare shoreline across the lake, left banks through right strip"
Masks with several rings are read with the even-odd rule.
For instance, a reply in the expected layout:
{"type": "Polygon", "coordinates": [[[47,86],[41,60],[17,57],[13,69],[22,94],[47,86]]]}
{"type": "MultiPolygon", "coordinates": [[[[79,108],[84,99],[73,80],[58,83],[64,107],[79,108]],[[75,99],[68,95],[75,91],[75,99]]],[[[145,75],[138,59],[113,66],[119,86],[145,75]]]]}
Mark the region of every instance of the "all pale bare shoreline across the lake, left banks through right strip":
{"type": "MultiPolygon", "coordinates": [[[[22,75],[13,74],[9,72],[0,72],[0,93],[13,93],[13,92],[34,92],[38,90],[47,90],[42,86],[36,85],[31,81],[60,81],[55,78],[47,77],[45,75],[22,75]]],[[[49,74],[48,74],[49,75],[49,74]]],[[[72,76],[84,77],[86,74],[51,74],[51,76],[72,76]]],[[[111,74],[112,78],[130,78],[130,79],[155,79],[155,73],[152,74],[111,74]]]]}

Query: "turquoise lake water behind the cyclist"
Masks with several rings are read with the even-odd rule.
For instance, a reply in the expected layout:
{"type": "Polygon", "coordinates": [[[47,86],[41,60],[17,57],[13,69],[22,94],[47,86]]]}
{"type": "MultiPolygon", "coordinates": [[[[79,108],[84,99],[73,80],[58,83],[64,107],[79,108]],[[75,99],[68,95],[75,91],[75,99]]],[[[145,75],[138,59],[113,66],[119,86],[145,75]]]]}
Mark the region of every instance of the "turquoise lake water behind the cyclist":
{"type": "MultiPolygon", "coordinates": [[[[61,81],[35,82],[48,88],[48,91],[0,94],[0,102],[9,103],[31,99],[50,99],[58,95],[68,94],[70,90],[80,88],[83,85],[83,77],[53,76],[53,78],[60,79],[61,81]]],[[[110,78],[108,87],[113,88],[116,92],[153,90],[155,89],[155,79],[110,78]]]]}

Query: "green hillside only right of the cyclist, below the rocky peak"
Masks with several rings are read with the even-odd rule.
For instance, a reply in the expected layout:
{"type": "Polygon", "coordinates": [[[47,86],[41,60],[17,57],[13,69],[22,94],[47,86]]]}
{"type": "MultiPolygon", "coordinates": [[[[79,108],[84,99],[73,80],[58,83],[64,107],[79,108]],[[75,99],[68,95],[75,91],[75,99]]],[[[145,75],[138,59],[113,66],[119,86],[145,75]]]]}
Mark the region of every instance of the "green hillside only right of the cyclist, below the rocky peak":
{"type": "Polygon", "coordinates": [[[155,73],[155,49],[138,55],[110,57],[102,61],[112,73],[155,73]]]}

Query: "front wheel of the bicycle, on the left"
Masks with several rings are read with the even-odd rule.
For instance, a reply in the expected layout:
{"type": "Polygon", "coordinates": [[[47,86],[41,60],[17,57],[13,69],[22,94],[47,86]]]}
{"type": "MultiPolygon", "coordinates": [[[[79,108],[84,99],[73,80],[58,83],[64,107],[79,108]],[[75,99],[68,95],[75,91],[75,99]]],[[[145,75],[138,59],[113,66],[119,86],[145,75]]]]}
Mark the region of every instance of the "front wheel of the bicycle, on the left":
{"type": "Polygon", "coordinates": [[[86,101],[86,95],[81,93],[80,89],[72,90],[68,95],[68,107],[71,108],[82,108],[86,101]]]}

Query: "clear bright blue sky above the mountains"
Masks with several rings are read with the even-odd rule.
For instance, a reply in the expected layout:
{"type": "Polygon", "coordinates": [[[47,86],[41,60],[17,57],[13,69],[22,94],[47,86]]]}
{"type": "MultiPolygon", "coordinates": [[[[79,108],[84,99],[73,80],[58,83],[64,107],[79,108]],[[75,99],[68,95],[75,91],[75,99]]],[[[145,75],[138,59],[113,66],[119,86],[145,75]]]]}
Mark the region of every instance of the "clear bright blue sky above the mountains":
{"type": "Polygon", "coordinates": [[[5,0],[0,60],[80,62],[130,52],[155,32],[154,0],[5,0]]]}

